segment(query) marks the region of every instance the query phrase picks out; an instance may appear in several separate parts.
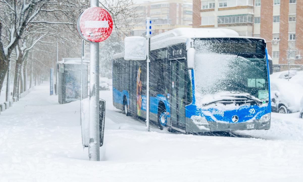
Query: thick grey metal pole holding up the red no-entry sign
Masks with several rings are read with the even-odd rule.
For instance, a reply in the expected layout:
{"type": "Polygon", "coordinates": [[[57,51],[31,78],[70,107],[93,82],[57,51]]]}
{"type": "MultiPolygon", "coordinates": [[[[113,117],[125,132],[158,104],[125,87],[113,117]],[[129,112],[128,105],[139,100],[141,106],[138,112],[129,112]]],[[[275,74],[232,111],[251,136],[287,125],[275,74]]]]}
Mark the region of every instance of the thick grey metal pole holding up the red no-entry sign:
{"type": "MultiPolygon", "coordinates": [[[[91,0],[91,7],[98,7],[98,0],[91,0]]],[[[90,99],[89,99],[89,160],[100,160],[99,126],[99,42],[90,42],[90,99]]]]}

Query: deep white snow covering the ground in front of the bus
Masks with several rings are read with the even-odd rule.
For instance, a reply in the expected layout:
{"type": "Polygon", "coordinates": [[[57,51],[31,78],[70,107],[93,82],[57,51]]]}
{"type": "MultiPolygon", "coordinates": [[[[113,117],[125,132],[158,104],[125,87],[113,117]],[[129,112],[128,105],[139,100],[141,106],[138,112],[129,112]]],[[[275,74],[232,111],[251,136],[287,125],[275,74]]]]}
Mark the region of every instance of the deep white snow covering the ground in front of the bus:
{"type": "Polygon", "coordinates": [[[6,181],[302,181],[303,120],[272,113],[270,130],[226,136],[168,133],[125,116],[106,99],[102,161],[88,161],[79,101],[59,105],[36,86],[0,115],[0,182],[6,181]]]}

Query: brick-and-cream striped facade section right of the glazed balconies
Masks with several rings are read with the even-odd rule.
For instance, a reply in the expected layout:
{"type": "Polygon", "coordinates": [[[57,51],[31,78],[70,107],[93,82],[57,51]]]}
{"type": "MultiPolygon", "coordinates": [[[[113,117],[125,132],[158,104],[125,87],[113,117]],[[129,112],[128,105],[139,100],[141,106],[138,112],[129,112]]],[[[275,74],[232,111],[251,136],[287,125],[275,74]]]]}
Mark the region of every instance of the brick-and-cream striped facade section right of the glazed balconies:
{"type": "Polygon", "coordinates": [[[303,0],[255,0],[254,36],[267,42],[274,64],[303,64],[303,0]]]}

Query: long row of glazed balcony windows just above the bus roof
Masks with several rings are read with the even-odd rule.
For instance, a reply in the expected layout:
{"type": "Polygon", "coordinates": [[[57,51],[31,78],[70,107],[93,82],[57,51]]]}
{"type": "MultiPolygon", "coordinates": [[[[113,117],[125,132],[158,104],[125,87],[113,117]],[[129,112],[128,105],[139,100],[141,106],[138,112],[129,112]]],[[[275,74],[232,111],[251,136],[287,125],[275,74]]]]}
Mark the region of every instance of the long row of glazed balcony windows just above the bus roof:
{"type": "Polygon", "coordinates": [[[253,15],[251,14],[218,16],[218,24],[252,23],[252,21],[253,15]]]}

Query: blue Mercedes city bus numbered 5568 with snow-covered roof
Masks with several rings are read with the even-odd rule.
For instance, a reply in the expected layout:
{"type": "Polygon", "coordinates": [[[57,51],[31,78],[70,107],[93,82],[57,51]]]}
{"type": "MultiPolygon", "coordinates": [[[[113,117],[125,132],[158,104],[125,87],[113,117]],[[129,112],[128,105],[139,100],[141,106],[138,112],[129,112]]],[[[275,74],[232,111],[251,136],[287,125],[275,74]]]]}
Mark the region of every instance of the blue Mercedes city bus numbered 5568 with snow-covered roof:
{"type": "MultiPolygon", "coordinates": [[[[150,120],[184,133],[268,130],[266,42],[229,29],[173,29],[151,38],[150,120]]],[[[146,61],[113,60],[113,104],[146,118],[146,61]]]]}

